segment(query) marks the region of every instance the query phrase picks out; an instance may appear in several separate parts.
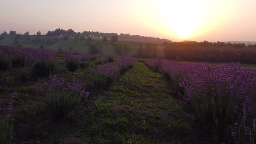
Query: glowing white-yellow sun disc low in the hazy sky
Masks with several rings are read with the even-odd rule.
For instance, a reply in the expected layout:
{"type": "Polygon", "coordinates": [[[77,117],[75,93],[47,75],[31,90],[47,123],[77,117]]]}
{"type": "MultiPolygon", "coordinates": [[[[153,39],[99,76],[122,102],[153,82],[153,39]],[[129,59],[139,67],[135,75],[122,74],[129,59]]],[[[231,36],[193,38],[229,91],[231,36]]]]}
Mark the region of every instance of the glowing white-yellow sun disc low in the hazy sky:
{"type": "Polygon", "coordinates": [[[202,0],[164,0],[162,16],[171,34],[179,39],[189,39],[200,33],[203,21],[202,0]]]}

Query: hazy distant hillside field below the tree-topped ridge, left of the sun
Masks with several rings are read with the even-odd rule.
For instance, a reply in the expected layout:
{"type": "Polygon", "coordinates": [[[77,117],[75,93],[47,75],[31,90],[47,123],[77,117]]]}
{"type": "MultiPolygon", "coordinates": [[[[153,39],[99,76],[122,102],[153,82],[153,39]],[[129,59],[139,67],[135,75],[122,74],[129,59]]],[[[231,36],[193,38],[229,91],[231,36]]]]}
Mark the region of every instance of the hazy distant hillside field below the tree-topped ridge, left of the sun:
{"type": "MultiPolygon", "coordinates": [[[[96,41],[102,41],[102,38],[92,38],[96,41]]],[[[108,38],[109,39],[109,38],[108,38]]],[[[145,45],[146,43],[157,44],[159,57],[163,55],[163,42],[161,41],[148,41],[148,40],[140,40],[140,39],[119,39],[118,44],[127,44],[130,47],[130,52],[128,56],[137,56],[137,49],[140,43],[145,45]]],[[[41,48],[43,49],[51,49],[58,51],[61,49],[62,51],[75,51],[80,53],[88,53],[89,43],[85,40],[74,39],[74,37],[69,37],[68,40],[63,40],[63,36],[56,37],[47,37],[47,36],[30,36],[29,39],[27,37],[20,37],[17,40],[14,40],[13,36],[6,36],[3,40],[0,40],[0,45],[2,46],[18,46],[20,44],[21,47],[24,48],[41,48]],[[16,42],[15,42],[16,41],[16,42]]],[[[114,46],[111,44],[110,40],[107,42],[102,42],[102,55],[115,55],[118,54],[114,51],[114,46]]]]}

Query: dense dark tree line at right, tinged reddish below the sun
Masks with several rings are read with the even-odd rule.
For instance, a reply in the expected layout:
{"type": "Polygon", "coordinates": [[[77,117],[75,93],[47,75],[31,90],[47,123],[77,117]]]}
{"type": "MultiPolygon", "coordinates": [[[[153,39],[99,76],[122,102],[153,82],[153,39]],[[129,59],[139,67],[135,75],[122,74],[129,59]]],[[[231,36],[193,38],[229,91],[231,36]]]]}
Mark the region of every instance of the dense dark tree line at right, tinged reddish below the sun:
{"type": "Polygon", "coordinates": [[[166,59],[198,62],[256,63],[256,44],[203,42],[164,42],[166,59]]]}

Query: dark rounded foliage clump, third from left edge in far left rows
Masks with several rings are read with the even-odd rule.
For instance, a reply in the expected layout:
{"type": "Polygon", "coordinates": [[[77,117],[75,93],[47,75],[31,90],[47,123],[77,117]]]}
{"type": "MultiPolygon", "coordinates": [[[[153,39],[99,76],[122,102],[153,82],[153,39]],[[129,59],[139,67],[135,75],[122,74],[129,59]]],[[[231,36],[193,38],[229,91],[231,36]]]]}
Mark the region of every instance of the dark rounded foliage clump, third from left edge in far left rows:
{"type": "Polygon", "coordinates": [[[33,74],[36,76],[48,76],[55,70],[55,63],[50,62],[47,59],[39,60],[33,67],[33,74]]]}

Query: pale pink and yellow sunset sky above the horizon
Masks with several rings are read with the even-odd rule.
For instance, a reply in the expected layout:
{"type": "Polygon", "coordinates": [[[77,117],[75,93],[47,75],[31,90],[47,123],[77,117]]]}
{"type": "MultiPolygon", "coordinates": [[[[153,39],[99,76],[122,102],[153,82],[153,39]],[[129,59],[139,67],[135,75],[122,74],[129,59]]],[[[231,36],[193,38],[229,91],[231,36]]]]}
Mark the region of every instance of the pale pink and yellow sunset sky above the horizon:
{"type": "Polygon", "coordinates": [[[130,33],[172,41],[256,41],[255,0],[1,0],[0,33],[130,33]]]}

